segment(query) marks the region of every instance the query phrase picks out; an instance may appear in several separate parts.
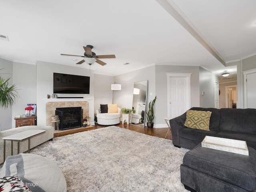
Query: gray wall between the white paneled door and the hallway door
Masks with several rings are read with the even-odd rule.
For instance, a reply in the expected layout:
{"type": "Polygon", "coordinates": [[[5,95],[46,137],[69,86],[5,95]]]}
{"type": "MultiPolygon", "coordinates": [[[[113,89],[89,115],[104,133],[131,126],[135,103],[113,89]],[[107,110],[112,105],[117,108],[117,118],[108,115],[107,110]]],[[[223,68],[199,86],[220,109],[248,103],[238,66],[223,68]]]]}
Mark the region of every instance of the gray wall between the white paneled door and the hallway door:
{"type": "Polygon", "coordinates": [[[208,70],[200,67],[200,107],[215,108],[215,82],[218,77],[208,70]],[[202,95],[204,92],[204,95],[202,95]]]}

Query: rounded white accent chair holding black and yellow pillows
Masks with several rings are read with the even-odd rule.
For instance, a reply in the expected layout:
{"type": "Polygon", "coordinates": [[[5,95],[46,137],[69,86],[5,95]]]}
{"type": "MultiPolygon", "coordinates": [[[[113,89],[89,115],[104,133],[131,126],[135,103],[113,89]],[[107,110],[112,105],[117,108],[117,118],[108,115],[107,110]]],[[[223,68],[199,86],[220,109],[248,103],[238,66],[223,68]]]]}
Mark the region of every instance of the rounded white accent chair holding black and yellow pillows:
{"type": "Polygon", "coordinates": [[[97,123],[100,125],[115,125],[120,123],[121,109],[118,107],[117,113],[100,113],[100,108],[96,109],[97,123]]]}

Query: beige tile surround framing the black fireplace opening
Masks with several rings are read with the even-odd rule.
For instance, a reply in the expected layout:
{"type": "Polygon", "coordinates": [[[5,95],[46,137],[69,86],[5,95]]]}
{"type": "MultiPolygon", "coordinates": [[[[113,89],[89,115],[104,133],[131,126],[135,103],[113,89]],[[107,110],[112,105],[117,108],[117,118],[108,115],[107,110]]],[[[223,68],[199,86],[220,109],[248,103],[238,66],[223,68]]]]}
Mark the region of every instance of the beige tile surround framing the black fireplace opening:
{"type": "Polygon", "coordinates": [[[46,103],[46,125],[52,125],[51,119],[55,115],[56,108],[61,107],[82,107],[84,110],[83,118],[89,117],[88,101],[64,101],[64,102],[47,102],[46,103]]]}

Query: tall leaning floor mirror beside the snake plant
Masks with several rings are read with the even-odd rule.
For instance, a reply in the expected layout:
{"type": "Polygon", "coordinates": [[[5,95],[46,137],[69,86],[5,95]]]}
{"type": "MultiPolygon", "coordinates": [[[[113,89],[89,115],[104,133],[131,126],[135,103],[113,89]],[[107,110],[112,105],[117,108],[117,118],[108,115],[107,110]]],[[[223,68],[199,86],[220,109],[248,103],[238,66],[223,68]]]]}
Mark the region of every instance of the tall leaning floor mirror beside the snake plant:
{"type": "Polygon", "coordinates": [[[134,82],[131,124],[145,127],[148,80],[134,82]]]}

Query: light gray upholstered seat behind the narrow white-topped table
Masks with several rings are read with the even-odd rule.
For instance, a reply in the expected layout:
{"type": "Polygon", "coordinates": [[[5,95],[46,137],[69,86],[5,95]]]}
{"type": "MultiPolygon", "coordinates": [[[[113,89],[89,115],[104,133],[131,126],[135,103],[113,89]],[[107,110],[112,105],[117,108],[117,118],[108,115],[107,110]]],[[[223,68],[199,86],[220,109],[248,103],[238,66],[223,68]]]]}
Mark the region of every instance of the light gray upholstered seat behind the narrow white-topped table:
{"type": "MultiPolygon", "coordinates": [[[[26,130],[45,130],[42,134],[33,136],[30,139],[30,149],[34,148],[35,146],[38,146],[42,144],[43,142],[46,142],[48,140],[51,140],[53,138],[54,134],[54,128],[52,126],[22,126],[18,128],[13,128],[9,130],[4,130],[0,132],[0,164],[4,162],[4,140],[2,140],[3,137],[13,135],[16,133],[20,133],[26,130]]],[[[13,154],[17,154],[17,142],[13,142],[13,154]]],[[[20,142],[20,153],[25,152],[28,150],[28,139],[23,140],[20,142]]],[[[6,141],[6,158],[11,155],[11,141],[6,141]]]]}

